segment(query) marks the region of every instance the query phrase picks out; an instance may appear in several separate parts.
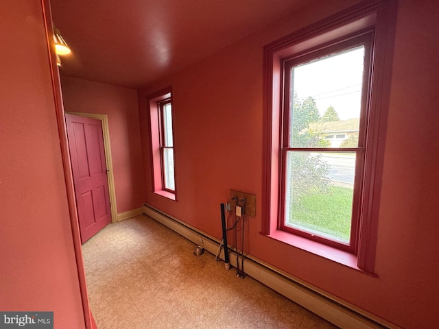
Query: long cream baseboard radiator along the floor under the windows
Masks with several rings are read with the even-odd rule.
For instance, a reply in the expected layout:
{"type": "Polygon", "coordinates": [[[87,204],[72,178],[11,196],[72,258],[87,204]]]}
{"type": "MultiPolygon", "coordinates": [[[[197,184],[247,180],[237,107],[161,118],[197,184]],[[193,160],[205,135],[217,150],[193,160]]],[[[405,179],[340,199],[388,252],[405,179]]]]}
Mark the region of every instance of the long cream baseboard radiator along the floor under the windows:
{"type": "MultiPolygon", "coordinates": [[[[211,254],[217,254],[220,241],[213,236],[209,236],[209,234],[201,232],[150,205],[143,204],[142,208],[145,215],[152,217],[196,245],[201,245],[211,254]]],[[[229,253],[230,265],[236,267],[236,253],[232,249],[229,250],[229,253]]],[[[219,254],[219,258],[224,260],[224,250],[219,254]]],[[[302,282],[300,279],[250,255],[247,255],[246,260],[244,260],[244,269],[248,276],[340,328],[400,328],[316,287],[311,287],[306,282],[302,282]]]]}

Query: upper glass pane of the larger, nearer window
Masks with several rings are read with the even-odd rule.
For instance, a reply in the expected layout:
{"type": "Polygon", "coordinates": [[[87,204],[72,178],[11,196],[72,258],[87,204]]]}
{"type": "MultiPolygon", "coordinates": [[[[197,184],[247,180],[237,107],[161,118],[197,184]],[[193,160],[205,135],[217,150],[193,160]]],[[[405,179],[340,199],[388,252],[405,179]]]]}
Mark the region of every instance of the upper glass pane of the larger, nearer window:
{"type": "Polygon", "coordinates": [[[358,146],[363,67],[361,46],[291,69],[290,147],[358,146]]]}

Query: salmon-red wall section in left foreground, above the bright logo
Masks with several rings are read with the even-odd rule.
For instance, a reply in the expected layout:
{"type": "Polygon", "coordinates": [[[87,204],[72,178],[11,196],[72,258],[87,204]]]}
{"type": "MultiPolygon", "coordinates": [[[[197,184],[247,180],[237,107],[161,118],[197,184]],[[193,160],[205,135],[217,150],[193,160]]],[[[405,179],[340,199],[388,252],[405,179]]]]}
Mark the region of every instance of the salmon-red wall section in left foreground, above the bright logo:
{"type": "Polygon", "coordinates": [[[42,5],[0,12],[0,310],[84,328],[42,5]]]}

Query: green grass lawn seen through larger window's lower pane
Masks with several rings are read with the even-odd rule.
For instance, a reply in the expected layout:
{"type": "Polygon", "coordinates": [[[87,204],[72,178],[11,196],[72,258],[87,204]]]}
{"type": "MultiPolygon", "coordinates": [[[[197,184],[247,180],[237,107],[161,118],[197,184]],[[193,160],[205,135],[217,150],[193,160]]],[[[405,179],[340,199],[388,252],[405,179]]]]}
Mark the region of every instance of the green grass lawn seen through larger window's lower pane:
{"type": "Polygon", "coordinates": [[[303,195],[299,204],[292,205],[288,223],[348,242],[352,194],[352,188],[331,186],[326,194],[303,195]]]}

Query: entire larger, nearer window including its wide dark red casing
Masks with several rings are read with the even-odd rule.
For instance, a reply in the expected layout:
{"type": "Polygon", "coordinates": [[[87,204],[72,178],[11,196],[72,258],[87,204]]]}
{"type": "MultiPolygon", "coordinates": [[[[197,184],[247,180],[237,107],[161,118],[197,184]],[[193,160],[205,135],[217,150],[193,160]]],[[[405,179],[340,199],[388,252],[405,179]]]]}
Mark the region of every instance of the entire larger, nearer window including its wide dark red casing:
{"type": "Polygon", "coordinates": [[[265,46],[263,234],[368,273],[391,6],[361,3],[265,46]]]}

